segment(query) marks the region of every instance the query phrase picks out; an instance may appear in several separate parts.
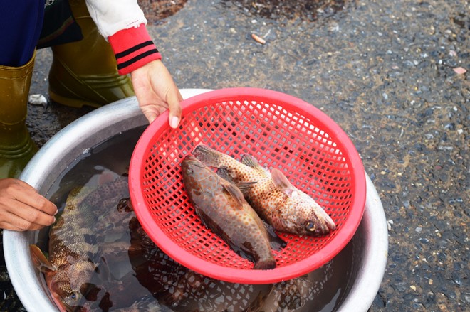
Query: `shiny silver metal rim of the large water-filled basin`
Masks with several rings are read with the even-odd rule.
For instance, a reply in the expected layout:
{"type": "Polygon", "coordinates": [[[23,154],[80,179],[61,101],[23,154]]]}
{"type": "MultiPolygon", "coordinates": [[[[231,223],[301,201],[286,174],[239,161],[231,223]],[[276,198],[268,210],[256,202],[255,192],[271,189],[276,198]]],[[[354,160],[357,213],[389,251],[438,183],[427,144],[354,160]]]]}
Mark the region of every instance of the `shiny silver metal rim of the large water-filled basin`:
{"type": "MultiPolygon", "coordinates": [[[[181,90],[184,98],[206,90],[181,90]]],[[[145,125],[135,97],[96,109],[53,136],[33,157],[21,179],[40,193],[48,192],[58,176],[83,151],[106,141],[121,131],[145,125]]],[[[387,224],[385,213],[372,181],[367,179],[365,214],[350,242],[350,259],[344,259],[348,278],[342,281],[343,298],[336,311],[367,311],[382,282],[387,261],[387,224]]],[[[29,244],[36,243],[38,232],[4,231],[4,255],[11,282],[21,303],[28,311],[58,311],[48,295],[43,279],[33,267],[29,244]]],[[[345,257],[344,253],[337,257],[345,257]]]]}

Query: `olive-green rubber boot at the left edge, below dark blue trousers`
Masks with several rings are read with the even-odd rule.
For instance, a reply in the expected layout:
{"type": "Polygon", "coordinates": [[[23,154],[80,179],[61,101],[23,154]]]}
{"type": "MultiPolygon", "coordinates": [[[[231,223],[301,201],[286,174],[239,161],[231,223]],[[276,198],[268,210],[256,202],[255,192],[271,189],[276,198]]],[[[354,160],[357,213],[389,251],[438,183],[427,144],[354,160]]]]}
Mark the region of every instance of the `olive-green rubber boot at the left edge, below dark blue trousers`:
{"type": "Polygon", "coordinates": [[[26,128],[35,56],[19,68],[0,65],[0,178],[18,178],[38,150],[26,128]]]}

